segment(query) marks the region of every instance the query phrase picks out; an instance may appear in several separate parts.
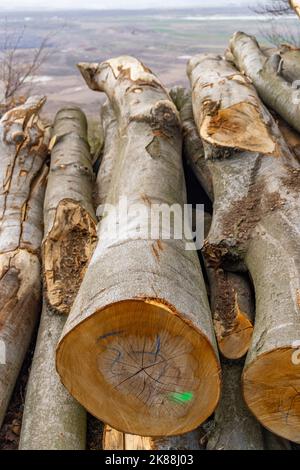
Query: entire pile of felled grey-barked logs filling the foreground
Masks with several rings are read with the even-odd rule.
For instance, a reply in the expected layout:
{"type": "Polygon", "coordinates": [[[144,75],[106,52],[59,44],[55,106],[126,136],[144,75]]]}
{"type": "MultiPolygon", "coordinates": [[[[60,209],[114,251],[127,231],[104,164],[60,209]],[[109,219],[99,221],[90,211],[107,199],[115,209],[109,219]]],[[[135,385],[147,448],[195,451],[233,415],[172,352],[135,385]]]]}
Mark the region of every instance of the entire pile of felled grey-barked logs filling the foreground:
{"type": "Polygon", "coordinates": [[[51,135],[42,98],[1,118],[0,421],[42,304],[20,449],[84,449],[85,410],[103,449],[300,443],[299,64],[241,32],[189,60],[190,90],[80,63],[107,97],[94,165],[78,108],[51,135]],[[186,168],[213,207],[198,252],[152,212],[175,232],[186,168]]]}

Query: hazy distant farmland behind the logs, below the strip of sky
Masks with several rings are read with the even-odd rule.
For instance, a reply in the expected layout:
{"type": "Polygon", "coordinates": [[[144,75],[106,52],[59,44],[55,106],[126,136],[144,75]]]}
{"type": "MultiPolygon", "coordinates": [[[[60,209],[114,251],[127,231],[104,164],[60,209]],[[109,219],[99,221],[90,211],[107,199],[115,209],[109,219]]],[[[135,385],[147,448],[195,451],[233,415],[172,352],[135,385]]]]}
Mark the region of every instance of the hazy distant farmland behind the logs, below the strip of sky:
{"type": "MultiPolygon", "coordinates": [[[[232,33],[243,30],[264,40],[269,26],[264,18],[248,10],[178,10],[147,12],[47,12],[0,15],[0,41],[4,27],[18,31],[26,25],[22,53],[29,54],[41,38],[55,33],[51,55],[40,70],[34,91],[48,95],[47,112],[64,103],[78,103],[89,114],[98,112],[103,97],[89,91],[75,64],[102,61],[130,54],[143,60],[159,74],[166,86],[187,85],[186,61],[199,52],[222,53],[232,33]]],[[[277,24],[279,24],[277,22],[277,24]]],[[[281,20],[282,27],[295,30],[296,19],[281,20]]]]}

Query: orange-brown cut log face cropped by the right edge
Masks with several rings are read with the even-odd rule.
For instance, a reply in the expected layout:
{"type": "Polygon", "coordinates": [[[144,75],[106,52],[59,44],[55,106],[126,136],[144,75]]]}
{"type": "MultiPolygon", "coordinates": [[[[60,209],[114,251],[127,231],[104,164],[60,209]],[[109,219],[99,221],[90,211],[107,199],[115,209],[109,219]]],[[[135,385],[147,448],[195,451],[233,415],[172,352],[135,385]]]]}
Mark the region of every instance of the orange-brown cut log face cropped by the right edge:
{"type": "Polygon", "coordinates": [[[272,350],[250,363],[243,374],[244,397],[270,431],[300,443],[300,364],[292,348],[272,350]]]}

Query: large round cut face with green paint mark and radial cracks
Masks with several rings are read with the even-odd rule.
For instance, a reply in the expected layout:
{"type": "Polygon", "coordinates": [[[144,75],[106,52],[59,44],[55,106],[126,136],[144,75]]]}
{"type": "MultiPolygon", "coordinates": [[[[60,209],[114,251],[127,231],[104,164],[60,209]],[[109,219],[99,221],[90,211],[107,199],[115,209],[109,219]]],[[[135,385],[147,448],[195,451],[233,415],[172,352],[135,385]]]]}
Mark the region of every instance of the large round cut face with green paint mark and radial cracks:
{"type": "Polygon", "coordinates": [[[213,347],[157,299],[118,302],[81,322],[59,344],[57,367],[80,403],[126,433],[191,431],[219,399],[213,347]]]}

